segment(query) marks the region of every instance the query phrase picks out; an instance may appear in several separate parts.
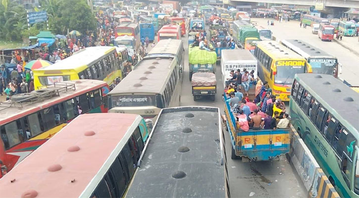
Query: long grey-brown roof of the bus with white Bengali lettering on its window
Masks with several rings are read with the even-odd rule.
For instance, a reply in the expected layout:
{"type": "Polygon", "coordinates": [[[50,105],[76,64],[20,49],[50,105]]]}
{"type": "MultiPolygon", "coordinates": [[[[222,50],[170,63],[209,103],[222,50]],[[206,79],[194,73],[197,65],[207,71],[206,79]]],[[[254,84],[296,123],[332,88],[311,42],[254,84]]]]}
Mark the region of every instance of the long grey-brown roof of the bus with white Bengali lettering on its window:
{"type": "Polygon", "coordinates": [[[160,94],[166,86],[169,74],[172,72],[172,61],[174,59],[171,57],[142,59],[136,64],[134,70],[110,91],[108,95],[131,93],[160,94]]]}

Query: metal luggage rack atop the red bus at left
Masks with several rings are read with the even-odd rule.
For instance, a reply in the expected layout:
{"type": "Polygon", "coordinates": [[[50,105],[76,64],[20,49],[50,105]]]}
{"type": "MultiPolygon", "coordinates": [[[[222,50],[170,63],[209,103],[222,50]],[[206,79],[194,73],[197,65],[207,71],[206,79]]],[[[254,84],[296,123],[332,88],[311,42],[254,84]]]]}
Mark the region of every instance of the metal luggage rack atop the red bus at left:
{"type": "MultiPolygon", "coordinates": [[[[35,90],[31,93],[27,93],[23,95],[24,99],[16,99],[13,100],[11,98],[10,101],[5,101],[0,103],[0,111],[10,108],[10,107],[18,107],[23,108],[25,105],[33,104],[39,101],[44,101],[45,99],[50,99],[55,96],[60,96],[60,93],[67,92],[70,90],[75,91],[75,83],[54,83],[53,87],[42,86],[41,89],[35,90]],[[28,96],[28,97],[26,97],[28,96]]],[[[18,95],[14,95],[15,97],[18,95]]]]}

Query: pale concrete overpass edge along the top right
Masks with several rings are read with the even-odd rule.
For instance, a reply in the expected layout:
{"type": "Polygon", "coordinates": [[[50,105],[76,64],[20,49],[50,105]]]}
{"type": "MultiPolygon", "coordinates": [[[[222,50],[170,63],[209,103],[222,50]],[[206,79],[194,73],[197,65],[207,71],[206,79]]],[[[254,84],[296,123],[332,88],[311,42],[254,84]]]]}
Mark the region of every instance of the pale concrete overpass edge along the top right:
{"type": "Polygon", "coordinates": [[[253,2],[253,3],[279,3],[279,4],[295,4],[295,5],[314,5],[325,7],[345,7],[359,8],[359,0],[230,0],[230,4],[237,2],[253,2]]]}

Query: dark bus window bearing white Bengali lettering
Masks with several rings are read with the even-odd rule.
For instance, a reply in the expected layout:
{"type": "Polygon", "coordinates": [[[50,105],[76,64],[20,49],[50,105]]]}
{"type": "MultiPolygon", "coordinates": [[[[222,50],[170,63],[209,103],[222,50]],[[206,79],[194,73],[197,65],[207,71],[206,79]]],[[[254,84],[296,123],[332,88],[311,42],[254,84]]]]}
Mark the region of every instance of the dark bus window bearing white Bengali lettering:
{"type": "Polygon", "coordinates": [[[155,106],[154,95],[111,96],[112,107],[155,106]]]}

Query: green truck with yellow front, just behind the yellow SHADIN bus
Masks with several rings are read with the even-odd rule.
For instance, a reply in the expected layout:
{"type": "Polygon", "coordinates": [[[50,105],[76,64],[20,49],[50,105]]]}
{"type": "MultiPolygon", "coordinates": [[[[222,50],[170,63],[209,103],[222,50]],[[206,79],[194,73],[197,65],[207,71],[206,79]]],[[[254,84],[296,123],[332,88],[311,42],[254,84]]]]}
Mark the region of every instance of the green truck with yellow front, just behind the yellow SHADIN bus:
{"type": "Polygon", "coordinates": [[[256,41],[259,41],[259,33],[256,28],[242,28],[239,32],[239,42],[237,46],[239,48],[248,49],[252,53],[255,52],[256,41]]]}

